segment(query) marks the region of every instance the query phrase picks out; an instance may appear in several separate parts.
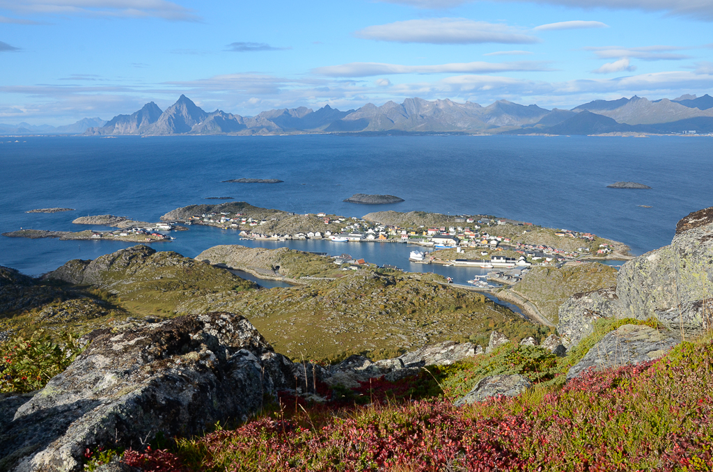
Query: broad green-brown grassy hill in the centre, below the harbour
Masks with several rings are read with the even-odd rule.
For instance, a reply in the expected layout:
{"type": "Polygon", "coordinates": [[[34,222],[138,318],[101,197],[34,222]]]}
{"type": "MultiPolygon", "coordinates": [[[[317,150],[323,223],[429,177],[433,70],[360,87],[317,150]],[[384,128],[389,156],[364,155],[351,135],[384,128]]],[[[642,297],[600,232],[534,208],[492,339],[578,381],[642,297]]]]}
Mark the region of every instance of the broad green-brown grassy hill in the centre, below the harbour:
{"type": "Polygon", "coordinates": [[[538,325],[482,294],[444,282],[440,275],[363,267],[308,286],[195,298],[179,311],[243,313],[278,352],[293,359],[337,361],[349,354],[383,359],[471,337],[487,344],[495,327],[513,337],[540,336],[538,325]]]}

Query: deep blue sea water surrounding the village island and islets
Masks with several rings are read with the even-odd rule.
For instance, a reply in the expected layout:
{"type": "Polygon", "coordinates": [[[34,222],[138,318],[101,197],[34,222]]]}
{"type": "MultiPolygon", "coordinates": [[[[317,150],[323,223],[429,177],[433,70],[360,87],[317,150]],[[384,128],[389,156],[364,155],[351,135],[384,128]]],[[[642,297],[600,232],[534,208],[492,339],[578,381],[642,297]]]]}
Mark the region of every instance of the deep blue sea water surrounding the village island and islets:
{"type": "MultiPolygon", "coordinates": [[[[676,222],[713,205],[713,142],[708,138],[334,135],[266,137],[0,138],[0,232],[20,227],[78,230],[73,218],[111,213],[158,221],[212,196],[294,212],[344,216],[372,211],[484,213],[593,232],[640,254],[670,243],[676,222]],[[19,142],[15,142],[18,140],[19,142]],[[279,184],[221,183],[278,178],[279,184]],[[652,190],[616,190],[629,180],[652,190]],[[354,193],[397,195],[394,205],[342,202],[354,193]],[[650,208],[640,207],[648,205],[650,208]],[[40,207],[73,212],[28,214],[40,207]]],[[[217,244],[245,244],[235,231],[190,227],[153,245],[195,257],[217,244]]],[[[327,241],[250,242],[339,254],[327,241]]],[[[126,247],[108,241],[0,238],[0,265],[29,275],[67,260],[126,247]]],[[[409,265],[406,245],[363,243],[348,252],[407,270],[466,279],[478,269],[409,265]],[[472,273],[471,273],[472,272],[472,273]]]]}

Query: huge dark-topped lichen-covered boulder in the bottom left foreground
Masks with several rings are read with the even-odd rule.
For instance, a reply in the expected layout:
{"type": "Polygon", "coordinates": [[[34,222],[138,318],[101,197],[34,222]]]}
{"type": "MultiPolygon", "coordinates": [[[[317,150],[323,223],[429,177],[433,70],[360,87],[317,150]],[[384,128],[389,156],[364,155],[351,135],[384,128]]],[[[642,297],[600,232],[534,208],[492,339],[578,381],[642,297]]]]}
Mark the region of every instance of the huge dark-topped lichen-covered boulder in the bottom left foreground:
{"type": "Polygon", "coordinates": [[[90,336],[86,352],[1,431],[8,469],[78,471],[86,448],[202,433],[216,421],[247,419],[275,390],[260,363],[272,347],[240,315],[185,316],[90,336]]]}

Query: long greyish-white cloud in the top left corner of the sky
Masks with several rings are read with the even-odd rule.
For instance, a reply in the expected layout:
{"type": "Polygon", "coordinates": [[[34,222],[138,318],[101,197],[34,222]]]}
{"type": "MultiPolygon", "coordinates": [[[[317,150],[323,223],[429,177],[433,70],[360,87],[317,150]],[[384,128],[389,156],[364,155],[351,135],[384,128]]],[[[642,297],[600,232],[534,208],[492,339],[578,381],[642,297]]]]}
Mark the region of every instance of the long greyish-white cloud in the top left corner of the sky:
{"type": "Polygon", "coordinates": [[[200,21],[192,9],[167,0],[0,0],[0,8],[21,14],[200,21]]]}

